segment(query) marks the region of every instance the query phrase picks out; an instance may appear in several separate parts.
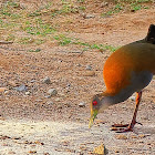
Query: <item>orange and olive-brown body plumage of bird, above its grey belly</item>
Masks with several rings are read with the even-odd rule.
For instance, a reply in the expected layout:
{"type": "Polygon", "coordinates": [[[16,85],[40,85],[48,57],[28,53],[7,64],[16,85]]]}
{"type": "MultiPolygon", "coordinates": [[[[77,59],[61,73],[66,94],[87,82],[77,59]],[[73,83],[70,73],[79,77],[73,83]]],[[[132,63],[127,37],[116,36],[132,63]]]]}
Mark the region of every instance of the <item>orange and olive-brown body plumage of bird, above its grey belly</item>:
{"type": "Polygon", "coordinates": [[[132,73],[155,74],[155,44],[131,43],[116,50],[105,62],[103,75],[107,92],[118,93],[130,85],[132,73]]]}

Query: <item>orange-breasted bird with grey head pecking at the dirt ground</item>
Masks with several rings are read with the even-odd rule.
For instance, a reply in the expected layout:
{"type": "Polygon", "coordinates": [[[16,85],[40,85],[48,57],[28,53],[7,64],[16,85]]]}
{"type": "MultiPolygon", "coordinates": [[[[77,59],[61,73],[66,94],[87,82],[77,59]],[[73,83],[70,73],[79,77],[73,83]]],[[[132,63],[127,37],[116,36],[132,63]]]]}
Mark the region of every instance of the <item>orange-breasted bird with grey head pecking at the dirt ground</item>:
{"type": "Polygon", "coordinates": [[[95,94],[91,100],[91,117],[89,127],[99,113],[111,105],[122,103],[136,93],[136,103],[130,124],[112,125],[116,132],[133,132],[136,122],[142,91],[155,74],[155,24],[151,24],[146,38],[138,40],[113,52],[103,66],[106,90],[95,94]]]}

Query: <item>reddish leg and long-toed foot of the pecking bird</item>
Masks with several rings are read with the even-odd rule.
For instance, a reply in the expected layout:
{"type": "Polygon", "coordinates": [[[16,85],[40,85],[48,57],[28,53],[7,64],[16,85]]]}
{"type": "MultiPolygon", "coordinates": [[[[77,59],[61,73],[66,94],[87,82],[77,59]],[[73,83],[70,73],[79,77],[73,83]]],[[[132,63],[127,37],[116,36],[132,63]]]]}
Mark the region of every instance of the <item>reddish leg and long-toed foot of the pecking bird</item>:
{"type": "MultiPolygon", "coordinates": [[[[112,125],[112,131],[118,131],[118,132],[130,132],[133,131],[134,125],[137,123],[136,122],[136,114],[137,114],[137,110],[138,110],[138,105],[142,99],[142,91],[136,93],[136,106],[135,106],[135,111],[134,111],[134,115],[133,115],[133,120],[131,122],[131,124],[114,124],[112,125]],[[116,128],[116,127],[126,127],[126,128],[116,128]]],[[[138,123],[141,124],[141,123],[138,123]]],[[[141,124],[142,125],[142,124],[141,124]]]]}

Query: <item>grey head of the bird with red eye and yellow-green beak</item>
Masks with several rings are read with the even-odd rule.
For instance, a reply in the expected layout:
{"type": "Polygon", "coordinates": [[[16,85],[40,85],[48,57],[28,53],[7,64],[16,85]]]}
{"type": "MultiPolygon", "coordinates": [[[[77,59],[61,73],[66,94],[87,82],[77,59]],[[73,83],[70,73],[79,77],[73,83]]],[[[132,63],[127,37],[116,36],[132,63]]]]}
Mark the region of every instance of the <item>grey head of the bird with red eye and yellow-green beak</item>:
{"type": "Polygon", "coordinates": [[[105,110],[108,106],[108,97],[105,95],[94,95],[91,101],[91,117],[89,123],[89,128],[92,127],[93,122],[99,113],[105,110]]]}

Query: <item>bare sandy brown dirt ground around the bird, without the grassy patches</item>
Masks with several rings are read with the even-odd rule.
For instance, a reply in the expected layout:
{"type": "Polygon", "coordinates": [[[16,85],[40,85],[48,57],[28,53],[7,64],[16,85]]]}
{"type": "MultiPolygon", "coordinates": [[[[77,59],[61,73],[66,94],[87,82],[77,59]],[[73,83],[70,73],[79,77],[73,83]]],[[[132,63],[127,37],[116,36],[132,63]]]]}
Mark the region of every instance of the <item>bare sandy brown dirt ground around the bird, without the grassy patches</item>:
{"type": "MultiPolygon", "coordinates": [[[[95,18],[72,14],[52,22],[62,22],[59,30],[70,30],[69,35],[81,41],[114,46],[145,38],[149,24],[155,24],[154,8],[110,18],[100,18],[100,10],[90,11],[95,18]],[[64,22],[66,18],[72,22],[64,22]]],[[[102,143],[110,155],[154,155],[155,79],[143,91],[137,114],[143,125],[123,134],[110,130],[114,123],[132,120],[135,104],[128,99],[99,114],[89,130],[90,100],[105,89],[102,70],[110,54],[55,42],[0,44],[0,87],[8,89],[0,93],[0,155],[87,155],[102,143]],[[34,48],[41,51],[29,52],[34,48]],[[42,82],[45,76],[50,84],[42,82]],[[21,84],[29,94],[14,89],[21,84]],[[46,97],[49,89],[56,89],[58,94],[46,97]],[[81,102],[84,107],[79,106],[81,102]]]]}

